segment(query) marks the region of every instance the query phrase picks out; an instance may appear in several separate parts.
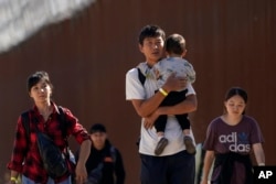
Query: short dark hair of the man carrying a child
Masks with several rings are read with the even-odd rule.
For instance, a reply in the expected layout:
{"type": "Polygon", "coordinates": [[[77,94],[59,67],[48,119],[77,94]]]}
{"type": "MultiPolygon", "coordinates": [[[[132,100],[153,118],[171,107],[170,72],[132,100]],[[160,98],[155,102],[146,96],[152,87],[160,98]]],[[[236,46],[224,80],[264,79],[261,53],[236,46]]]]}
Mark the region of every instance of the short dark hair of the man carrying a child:
{"type": "Polygon", "coordinates": [[[139,44],[142,45],[144,40],[146,37],[157,37],[157,36],[161,36],[164,40],[166,39],[164,31],[158,25],[146,25],[140,31],[138,42],[139,44]]]}

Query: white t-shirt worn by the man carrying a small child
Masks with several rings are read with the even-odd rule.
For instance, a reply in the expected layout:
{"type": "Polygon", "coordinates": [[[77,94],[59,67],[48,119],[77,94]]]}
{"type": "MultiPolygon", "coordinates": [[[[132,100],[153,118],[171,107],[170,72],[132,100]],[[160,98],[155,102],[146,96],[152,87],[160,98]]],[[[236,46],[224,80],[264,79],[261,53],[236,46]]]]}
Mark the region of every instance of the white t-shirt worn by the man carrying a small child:
{"type": "MultiPolygon", "coordinates": [[[[141,72],[146,75],[145,84],[142,85],[138,77],[138,69],[132,68],[126,74],[126,99],[148,99],[155,95],[155,90],[158,89],[155,77],[151,76],[151,71],[146,63],[141,63],[138,66],[141,72]]],[[[191,85],[187,86],[189,94],[195,94],[191,85]]],[[[145,129],[144,118],[141,119],[141,129],[140,129],[140,144],[139,153],[147,155],[155,155],[155,148],[158,142],[158,137],[155,128],[145,129]]],[[[183,133],[181,127],[178,123],[178,120],[174,116],[168,116],[167,126],[164,130],[164,137],[169,140],[168,145],[164,148],[162,155],[171,155],[178,153],[182,150],[185,150],[183,143],[183,133]]],[[[191,137],[193,138],[192,130],[191,137]]]]}

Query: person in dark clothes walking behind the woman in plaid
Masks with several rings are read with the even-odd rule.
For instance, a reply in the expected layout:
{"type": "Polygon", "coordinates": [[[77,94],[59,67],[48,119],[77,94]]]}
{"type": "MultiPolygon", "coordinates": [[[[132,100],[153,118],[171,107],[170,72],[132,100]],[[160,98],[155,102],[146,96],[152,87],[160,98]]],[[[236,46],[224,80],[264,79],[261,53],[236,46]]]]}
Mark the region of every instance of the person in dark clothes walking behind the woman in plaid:
{"type": "MultiPolygon", "coordinates": [[[[125,169],[123,158],[117,148],[107,139],[106,128],[95,123],[89,130],[92,148],[86,162],[87,184],[124,184],[125,169]]],[[[78,152],[76,152],[78,160],[78,152]]]]}

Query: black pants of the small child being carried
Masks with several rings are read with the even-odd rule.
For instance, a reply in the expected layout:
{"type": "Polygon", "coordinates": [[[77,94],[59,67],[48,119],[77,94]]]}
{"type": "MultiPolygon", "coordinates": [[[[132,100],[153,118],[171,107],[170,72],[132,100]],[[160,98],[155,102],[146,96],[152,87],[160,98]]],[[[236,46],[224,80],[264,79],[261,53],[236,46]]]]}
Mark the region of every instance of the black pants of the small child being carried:
{"type": "MultiPolygon", "coordinates": [[[[160,104],[161,106],[174,106],[185,99],[185,94],[188,93],[188,89],[182,91],[171,91],[169,95],[163,99],[163,101],[160,104]]],[[[155,122],[155,128],[157,132],[164,132],[166,123],[167,123],[167,115],[161,115],[157,118],[155,122]]],[[[181,127],[182,130],[190,129],[190,120],[188,118],[188,113],[183,115],[176,115],[176,118],[181,127]]]]}

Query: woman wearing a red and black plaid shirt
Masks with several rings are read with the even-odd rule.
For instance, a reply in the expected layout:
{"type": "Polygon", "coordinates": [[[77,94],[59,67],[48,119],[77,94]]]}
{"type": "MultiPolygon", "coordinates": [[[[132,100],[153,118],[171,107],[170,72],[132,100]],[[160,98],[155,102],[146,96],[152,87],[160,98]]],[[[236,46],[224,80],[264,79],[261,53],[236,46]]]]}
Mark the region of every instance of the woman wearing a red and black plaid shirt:
{"type": "MultiPolygon", "coordinates": [[[[30,129],[29,132],[24,129],[23,118],[20,116],[11,161],[7,165],[11,170],[10,183],[18,183],[18,176],[22,174],[23,184],[71,184],[71,173],[74,172],[73,167],[68,167],[68,171],[60,177],[50,177],[43,166],[44,163],[38,148],[38,131],[47,134],[54,144],[60,148],[61,152],[64,153],[67,147],[62,137],[60,126],[62,122],[59,119],[61,113],[59,111],[60,108],[51,99],[53,85],[49,74],[43,71],[32,74],[28,78],[28,93],[34,101],[33,108],[28,110],[30,129]]],[[[76,181],[83,183],[87,178],[84,163],[91,151],[89,136],[70,109],[63,107],[63,111],[66,119],[66,137],[74,136],[81,144],[81,156],[76,163],[75,173],[76,181]]]]}

